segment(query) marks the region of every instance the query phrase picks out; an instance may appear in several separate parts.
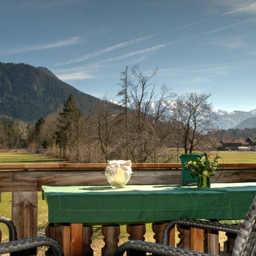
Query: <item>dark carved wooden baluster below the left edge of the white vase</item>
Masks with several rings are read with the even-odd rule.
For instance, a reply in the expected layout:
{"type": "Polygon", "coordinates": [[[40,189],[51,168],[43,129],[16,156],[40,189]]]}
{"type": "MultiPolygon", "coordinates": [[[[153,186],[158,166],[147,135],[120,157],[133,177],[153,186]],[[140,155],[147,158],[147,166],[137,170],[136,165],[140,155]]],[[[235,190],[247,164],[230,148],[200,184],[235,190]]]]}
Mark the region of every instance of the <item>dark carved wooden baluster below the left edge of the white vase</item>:
{"type": "Polygon", "coordinates": [[[104,247],[102,248],[102,256],[112,256],[118,246],[120,226],[102,226],[102,234],[104,236],[104,247]]]}

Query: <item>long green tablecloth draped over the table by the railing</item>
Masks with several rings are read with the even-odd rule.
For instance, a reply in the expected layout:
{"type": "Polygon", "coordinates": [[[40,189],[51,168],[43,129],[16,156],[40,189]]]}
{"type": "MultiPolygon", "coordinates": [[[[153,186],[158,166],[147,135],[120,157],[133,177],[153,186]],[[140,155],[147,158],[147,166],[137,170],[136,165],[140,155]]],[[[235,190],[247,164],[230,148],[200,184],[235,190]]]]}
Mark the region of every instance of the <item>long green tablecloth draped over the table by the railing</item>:
{"type": "Polygon", "coordinates": [[[42,186],[49,222],[103,225],[177,218],[243,219],[256,194],[256,182],[180,185],[42,186]]]}

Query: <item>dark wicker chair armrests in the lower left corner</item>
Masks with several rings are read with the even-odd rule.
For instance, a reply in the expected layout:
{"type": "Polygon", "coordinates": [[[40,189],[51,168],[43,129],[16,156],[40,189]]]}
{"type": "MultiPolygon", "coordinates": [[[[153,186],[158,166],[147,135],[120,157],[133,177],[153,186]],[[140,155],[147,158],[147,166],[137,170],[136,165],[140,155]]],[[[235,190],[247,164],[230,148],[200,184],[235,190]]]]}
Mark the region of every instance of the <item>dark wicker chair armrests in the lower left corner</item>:
{"type": "Polygon", "coordinates": [[[17,231],[14,223],[4,217],[0,217],[0,222],[5,223],[9,230],[9,241],[0,243],[0,254],[10,253],[11,256],[19,255],[22,250],[37,248],[40,246],[49,246],[52,249],[54,256],[63,256],[62,247],[57,241],[51,238],[38,236],[25,239],[17,239],[17,231]]]}

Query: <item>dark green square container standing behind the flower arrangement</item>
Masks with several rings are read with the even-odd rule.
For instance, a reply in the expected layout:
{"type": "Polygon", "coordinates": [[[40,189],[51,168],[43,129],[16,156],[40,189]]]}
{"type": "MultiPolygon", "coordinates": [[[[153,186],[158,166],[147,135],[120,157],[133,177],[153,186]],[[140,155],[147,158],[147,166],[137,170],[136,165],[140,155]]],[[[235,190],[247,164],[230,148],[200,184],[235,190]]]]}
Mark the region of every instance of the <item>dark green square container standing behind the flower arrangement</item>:
{"type": "Polygon", "coordinates": [[[191,176],[190,175],[190,170],[186,170],[185,168],[185,162],[193,161],[197,157],[202,158],[203,154],[181,154],[180,159],[181,159],[181,181],[184,183],[189,183],[189,182],[198,182],[198,177],[197,176],[191,176]]]}

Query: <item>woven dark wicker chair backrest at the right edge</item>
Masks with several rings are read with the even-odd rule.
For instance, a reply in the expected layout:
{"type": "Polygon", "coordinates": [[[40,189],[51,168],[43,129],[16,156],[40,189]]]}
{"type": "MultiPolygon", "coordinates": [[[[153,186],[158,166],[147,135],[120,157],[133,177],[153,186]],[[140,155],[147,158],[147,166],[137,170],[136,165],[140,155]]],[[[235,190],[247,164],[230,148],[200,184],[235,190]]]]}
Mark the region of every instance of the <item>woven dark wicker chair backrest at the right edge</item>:
{"type": "Polygon", "coordinates": [[[256,255],[256,197],[237,234],[232,256],[256,255]]]}

